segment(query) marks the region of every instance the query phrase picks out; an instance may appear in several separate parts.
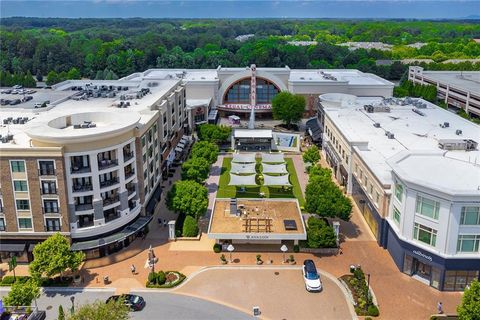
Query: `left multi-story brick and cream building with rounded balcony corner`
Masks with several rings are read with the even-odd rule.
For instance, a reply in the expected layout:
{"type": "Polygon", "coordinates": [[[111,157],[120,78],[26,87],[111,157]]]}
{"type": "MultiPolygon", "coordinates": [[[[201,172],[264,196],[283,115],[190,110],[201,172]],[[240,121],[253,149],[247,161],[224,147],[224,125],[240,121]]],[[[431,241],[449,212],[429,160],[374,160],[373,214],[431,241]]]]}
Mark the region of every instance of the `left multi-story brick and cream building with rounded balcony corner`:
{"type": "Polygon", "coordinates": [[[0,111],[2,258],[28,261],[54,232],[89,258],[128,246],[188,125],[182,81],[66,81],[32,96],[0,111]]]}

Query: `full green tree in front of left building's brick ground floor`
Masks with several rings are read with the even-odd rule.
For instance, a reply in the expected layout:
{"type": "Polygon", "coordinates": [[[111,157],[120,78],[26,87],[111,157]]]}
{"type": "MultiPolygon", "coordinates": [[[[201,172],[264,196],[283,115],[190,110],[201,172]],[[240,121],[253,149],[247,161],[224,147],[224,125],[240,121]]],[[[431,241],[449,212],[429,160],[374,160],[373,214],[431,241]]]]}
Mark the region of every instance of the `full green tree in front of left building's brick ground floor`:
{"type": "Polygon", "coordinates": [[[30,274],[35,278],[43,275],[51,277],[57,274],[63,276],[67,269],[76,271],[85,254],[70,250],[70,242],[60,233],[48,237],[33,249],[33,261],[30,263],[30,274]]]}

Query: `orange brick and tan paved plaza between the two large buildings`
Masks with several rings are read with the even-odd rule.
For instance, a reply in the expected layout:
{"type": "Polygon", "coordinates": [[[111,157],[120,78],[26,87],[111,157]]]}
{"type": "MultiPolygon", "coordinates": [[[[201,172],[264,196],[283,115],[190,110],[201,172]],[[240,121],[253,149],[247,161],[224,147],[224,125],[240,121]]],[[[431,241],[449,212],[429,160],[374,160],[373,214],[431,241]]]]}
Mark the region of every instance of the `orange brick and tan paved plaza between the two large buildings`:
{"type": "MultiPolygon", "coordinates": [[[[291,157],[294,159],[299,183],[304,188],[308,177],[303,172],[301,156],[291,157]]],[[[212,176],[207,181],[210,197],[208,214],[211,212],[215,198],[221,172],[219,166],[222,161],[223,157],[220,156],[212,167],[212,176]]],[[[174,179],[178,179],[178,171],[174,179]]],[[[175,218],[175,214],[169,212],[165,207],[166,190],[168,190],[167,187],[164,189],[162,201],[157,206],[146,239],[137,239],[129,248],[115,255],[87,261],[82,269],[84,277],[82,286],[103,287],[105,285],[101,279],[108,275],[111,282],[106,286],[116,288],[117,292],[144,288],[149,272],[149,269],[145,268],[145,263],[147,249],[150,245],[153,246],[154,252],[159,258],[155,266],[156,270],[179,270],[189,276],[203,267],[220,266],[219,254],[213,252],[213,242],[205,234],[202,235],[200,242],[168,242],[167,228],[156,223],[158,217],[162,219],[175,218]],[[136,275],[131,274],[130,266],[132,264],[137,268],[136,275]]],[[[341,223],[341,232],[344,242],[341,244],[342,250],[339,255],[317,256],[298,253],[294,254],[296,261],[302,263],[304,259],[313,259],[317,268],[335,277],[348,273],[349,266],[352,264],[361,265],[365,273],[371,275],[370,284],[379,304],[381,319],[428,319],[431,314],[436,312],[438,301],[443,302],[443,309],[446,313],[455,313],[456,306],[461,300],[461,293],[437,291],[401,273],[388,252],[378,246],[356,207],[354,207],[351,221],[341,223]]],[[[234,252],[233,265],[252,267],[255,265],[256,254],[256,252],[234,252]]],[[[280,250],[279,252],[262,253],[262,259],[265,261],[271,259],[273,266],[282,266],[283,258],[280,250]]],[[[258,268],[270,268],[272,265],[258,268]]],[[[19,272],[21,269],[17,268],[17,275],[19,272]]],[[[346,310],[345,300],[338,295],[340,291],[337,292],[333,284],[332,287],[330,285],[326,287],[326,291],[334,292],[331,293],[334,298],[327,302],[322,300],[323,293],[305,295],[300,271],[297,270],[295,273],[285,270],[285,272],[280,272],[282,276],[277,279],[268,270],[229,270],[228,272],[211,270],[194,276],[173,292],[178,291],[182,294],[211,299],[249,312],[254,301],[258,301],[258,304],[264,301],[264,315],[267,318],[270,316],[275,319],[309,319],[312,305],[316,307],[317,313],[313,317],[315,319],[332,319],[327,314],[345,314],[342,313],[346,310]],[[295,273],[296,275],[294,275],[295,273]],[[260,282],[257,283],[255,279],[264,279],[261,283],[267,285],[259,287],[260,282]],[[265,279],[271,279],[271,281],[265,281],[265,279]],[[325,314],[325,308],[338,313],[325,314]]]]}

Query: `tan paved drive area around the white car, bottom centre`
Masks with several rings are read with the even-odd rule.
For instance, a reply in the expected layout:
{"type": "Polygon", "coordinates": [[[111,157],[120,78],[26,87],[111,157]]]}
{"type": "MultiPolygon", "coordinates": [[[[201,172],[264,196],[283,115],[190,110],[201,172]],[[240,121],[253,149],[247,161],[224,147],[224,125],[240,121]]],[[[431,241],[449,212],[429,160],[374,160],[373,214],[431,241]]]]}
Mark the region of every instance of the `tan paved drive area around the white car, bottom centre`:
{"type": "Polygon", "coordinates": [[[260,307],[266,319],[352,319],[353,308],[337,282],[321,272],[323,291],[305,290],[300,266],[207,269],[175,290],[252,314],[260,307]]]}

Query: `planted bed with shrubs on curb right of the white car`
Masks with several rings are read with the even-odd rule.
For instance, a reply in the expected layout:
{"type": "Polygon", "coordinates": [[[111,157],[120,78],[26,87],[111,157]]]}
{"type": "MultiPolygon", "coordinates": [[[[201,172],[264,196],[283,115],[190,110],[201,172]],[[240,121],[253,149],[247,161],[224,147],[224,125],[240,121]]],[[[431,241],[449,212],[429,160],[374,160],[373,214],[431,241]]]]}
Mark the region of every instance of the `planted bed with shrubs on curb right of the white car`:
{"type": "Polygon", "coordinates": [[[365,274],[360,267],[353,270],[353,274],[340,277],[348,286],[355,302],[355,312],[359,316],[377,317],[380,313],[373,303],[370,290],[365,281],[365,274]]]}

